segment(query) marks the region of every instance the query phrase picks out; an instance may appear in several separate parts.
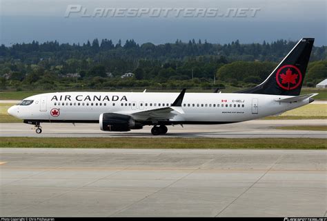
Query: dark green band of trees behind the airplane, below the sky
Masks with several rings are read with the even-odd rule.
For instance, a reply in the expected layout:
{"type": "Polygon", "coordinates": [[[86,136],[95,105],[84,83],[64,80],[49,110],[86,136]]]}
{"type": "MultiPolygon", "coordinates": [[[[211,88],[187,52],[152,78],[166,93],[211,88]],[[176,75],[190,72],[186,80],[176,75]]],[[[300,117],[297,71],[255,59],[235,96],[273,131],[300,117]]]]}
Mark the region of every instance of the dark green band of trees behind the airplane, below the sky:
{"type": "MultiPolygon", "coordinates": [[[[266,78],[295,41],[225,45],[201,42],[139,45],[98,39],[79,44],[0,46],[1,88],[66,90],[117,87],[249,87],[266,78]],[[134,77],[121,78],[126,72],[134,77]]],[[[314,47],[306,83],[327,78],[327,47],[314,47]]]]}

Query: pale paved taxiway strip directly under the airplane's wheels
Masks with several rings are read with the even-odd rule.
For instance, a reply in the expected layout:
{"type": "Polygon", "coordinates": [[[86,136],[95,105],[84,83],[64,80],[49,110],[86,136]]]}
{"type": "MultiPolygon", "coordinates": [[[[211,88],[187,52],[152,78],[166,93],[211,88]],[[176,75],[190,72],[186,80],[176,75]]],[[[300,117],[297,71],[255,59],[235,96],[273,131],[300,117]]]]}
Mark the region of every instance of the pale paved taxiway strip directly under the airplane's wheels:
{"type": "MultiPolygon", "coordinates": [[[[280,126],[327,125],[327,120],[250,120],[228,125],[168,126],[164,137],[211,138],[327,138],[327,131],[281,130],[280,126]]],[[[33,125],[0,123],[0,136],[31,137],[153,137],[150,126],[128,132],[101,131],[98,124],[43,123],[42,134],[36,134],[33,125]]]]}

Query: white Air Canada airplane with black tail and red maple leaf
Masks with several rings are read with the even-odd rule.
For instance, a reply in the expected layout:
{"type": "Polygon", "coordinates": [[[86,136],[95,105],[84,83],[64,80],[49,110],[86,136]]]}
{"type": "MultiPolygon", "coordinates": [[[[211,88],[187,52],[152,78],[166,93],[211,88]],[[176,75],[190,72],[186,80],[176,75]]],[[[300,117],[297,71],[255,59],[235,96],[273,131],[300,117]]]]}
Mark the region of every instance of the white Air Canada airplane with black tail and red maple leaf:
{"type": "Polygon", "coordinates": [[[23,123],[99,123],[103,131],[130,131],[154,125],[237,123],[281,114],[307,105],[317,94],[299,96],[315,39],[301,39],[266,80],[235,93],[57,92],[30,96],[8,109],[23,123]]]}

